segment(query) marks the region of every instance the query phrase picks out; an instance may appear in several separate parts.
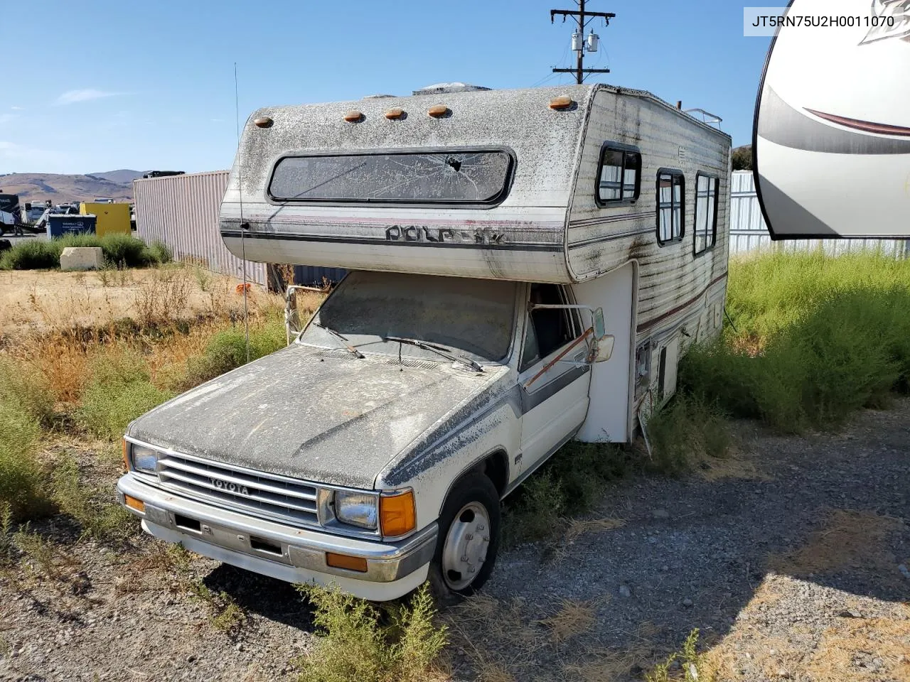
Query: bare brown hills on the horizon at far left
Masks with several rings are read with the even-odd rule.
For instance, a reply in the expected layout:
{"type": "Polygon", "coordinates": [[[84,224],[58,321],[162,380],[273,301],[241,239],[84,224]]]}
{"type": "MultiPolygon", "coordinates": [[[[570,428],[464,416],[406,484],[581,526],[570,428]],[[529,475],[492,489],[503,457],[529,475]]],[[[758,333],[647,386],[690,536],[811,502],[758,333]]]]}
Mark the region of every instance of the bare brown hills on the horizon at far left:
{"type": "MultiPolygon", "coordinates": [[[[0,176],[0,192],[19,195],[20,202],[46,201],[55,204],[71,204],[106,197],[116,201],[132,201],[133,177],[116,182],[104,176],[119,177],[118,174],[134,174],[136,171],[119,170],[109,173],[93,173],[85,176],[64,176],[54,173],[11,173],[0,176]]],[[[124,177],[126,177],[124,175],[124,177]]]]}

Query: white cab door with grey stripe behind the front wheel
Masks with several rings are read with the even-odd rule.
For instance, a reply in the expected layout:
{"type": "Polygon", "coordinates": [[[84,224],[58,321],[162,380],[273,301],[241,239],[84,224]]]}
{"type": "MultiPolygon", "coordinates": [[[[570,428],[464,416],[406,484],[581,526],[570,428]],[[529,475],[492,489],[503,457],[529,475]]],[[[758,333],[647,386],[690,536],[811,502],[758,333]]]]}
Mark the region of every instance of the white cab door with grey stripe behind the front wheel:
{"type": "Polygon", "coordinates": [[[532,469],[573,434],[588,413],[591,366],[585,328],[563,286],[531,285],[519,365],[521,470],[532,469]]]}

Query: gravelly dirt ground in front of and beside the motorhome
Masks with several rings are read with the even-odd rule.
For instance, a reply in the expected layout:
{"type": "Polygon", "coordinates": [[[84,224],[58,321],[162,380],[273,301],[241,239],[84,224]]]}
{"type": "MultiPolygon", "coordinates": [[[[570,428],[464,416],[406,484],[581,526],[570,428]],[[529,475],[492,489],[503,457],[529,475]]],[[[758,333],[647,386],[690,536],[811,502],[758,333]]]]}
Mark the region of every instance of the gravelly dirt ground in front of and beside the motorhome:
{"type": "MultiPolygon", "coordinates": [[[[618,482],[571,537],[501,555],[441,614],[453,679],[638,680],[698,628],[699,680],[910,680],[910,400],[838,435],[735,428],[731,476],[618,482]]],[[[56,548],[0,576],[0,680],[284,680],[314,641],[286,584],[33,530],[56,548]]]]}

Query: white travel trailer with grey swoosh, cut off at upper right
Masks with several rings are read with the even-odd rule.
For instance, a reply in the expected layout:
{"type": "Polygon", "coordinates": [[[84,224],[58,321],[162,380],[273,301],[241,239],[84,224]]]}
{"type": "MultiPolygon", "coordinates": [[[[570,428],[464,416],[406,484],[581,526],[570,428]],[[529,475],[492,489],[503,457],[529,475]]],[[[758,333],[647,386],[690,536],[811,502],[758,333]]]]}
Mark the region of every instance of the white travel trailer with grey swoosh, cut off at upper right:
{"type": "Polygon", "coordinates": [[[772,238],[910,237],[910,3],[792,0],[780,21],[753,132],[772,238]]]}

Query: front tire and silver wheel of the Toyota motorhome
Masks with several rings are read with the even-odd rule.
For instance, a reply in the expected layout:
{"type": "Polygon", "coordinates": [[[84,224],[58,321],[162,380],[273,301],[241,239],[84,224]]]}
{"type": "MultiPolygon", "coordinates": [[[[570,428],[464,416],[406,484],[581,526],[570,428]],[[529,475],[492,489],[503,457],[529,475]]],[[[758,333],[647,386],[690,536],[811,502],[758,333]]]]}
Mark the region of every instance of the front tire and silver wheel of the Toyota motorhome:
{"type": "Polygon", "coordinates": [[[440,515],[440,536],[430,565],[437,601],[455,604],[483,587],[496,564],[500,526],[500,496],[490,478],[480,473],[462,478],[440,515]]]}

